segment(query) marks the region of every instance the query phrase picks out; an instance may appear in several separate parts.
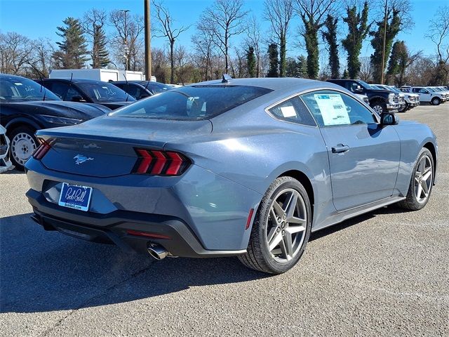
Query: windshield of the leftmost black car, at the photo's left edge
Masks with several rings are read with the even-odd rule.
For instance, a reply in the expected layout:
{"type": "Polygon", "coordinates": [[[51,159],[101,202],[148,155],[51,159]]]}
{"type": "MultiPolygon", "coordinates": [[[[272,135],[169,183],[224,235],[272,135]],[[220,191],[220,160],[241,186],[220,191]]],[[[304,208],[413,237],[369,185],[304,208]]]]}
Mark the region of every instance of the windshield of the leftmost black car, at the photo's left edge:
{"type": "Polygon", "coordinates": [[[0,77],[0,102],[60,100],[57,95],[23,77],[0,77]]]}

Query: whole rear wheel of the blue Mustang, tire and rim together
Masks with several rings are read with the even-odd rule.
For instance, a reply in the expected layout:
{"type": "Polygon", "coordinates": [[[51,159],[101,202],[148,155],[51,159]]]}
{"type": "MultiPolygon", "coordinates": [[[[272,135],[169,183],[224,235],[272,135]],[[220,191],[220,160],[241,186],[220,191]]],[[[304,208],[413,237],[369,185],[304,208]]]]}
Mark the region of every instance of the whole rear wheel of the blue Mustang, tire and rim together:
{"type": "Polygon", "coordinates": [[[311,230],[307,192],[292,177],[274,180],[256,213],[247,253],[239,260],[255,270],[281,274],[302,256],[311,230]]]}

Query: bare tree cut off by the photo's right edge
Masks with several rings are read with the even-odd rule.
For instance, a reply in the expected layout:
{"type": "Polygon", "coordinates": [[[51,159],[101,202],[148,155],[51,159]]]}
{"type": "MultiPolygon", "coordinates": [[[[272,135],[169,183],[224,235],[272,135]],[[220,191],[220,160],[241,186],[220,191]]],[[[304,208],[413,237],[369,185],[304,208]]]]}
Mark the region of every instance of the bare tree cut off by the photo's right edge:
{"type": "Polygon", "coordinates": [[[438,8],[434,18],[430,20],[428,37],[436,45],[438,62],[449,60],[449,6],[438,8]]]}

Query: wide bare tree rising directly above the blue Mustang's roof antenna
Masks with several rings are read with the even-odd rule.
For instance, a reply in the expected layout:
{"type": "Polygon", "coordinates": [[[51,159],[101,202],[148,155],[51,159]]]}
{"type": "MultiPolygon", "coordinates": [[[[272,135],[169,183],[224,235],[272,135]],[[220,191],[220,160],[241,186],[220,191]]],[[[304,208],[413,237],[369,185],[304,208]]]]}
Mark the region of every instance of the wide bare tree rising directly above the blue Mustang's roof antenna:
{"type": "Polygon", "coordinates": [[[225,56],[225,72],[229,70],[230,39],[245,31],[243,0],[215,0],[203,11],[198,26],[213,37],[213,44],[225,56]]]}

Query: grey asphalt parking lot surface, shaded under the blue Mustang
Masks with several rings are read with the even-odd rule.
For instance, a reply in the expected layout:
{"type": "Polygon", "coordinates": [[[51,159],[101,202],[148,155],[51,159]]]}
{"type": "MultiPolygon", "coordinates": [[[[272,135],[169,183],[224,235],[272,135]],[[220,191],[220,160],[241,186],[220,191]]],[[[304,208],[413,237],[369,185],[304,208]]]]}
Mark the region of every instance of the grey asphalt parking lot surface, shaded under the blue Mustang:
{"type": "Polygon", "coordinates": [[[449,336],[449,103],[398,116],[438,137],[429,204],[316,232],[275,277],[236,258],[153,262],[44,232],[25,175],[0,175],[0,335],[449,336]]]}

